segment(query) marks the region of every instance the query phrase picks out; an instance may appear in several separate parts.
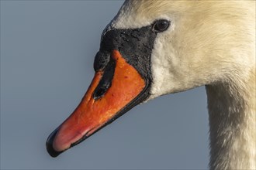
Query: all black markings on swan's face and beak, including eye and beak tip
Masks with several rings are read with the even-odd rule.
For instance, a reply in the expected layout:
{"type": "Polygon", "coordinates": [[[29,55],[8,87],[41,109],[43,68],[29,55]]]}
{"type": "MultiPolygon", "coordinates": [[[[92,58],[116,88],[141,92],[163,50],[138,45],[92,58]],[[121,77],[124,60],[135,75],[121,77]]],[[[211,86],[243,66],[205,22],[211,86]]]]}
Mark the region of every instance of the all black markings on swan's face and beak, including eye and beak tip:
{"type": "MultiPolygon", "coordinates": [[[[107,124],[112,123],[112,121],[115,121],[116,118],[122,116],[137,104],[147,100],[147,98],[150,96],[150,85],[152,82],[150,58],[157,33],[168,29],[170,22],[165,21],[166,20],[161,19],[154,22],[150,26],[144,26],[140,29],[110,29],[109,31],[104,32],[100,49],[95,56],[94,62],[95,71],[103,71],[103,76],[93,93],[94,99],[98,100],[99,98],[103,97],[109,87],[111,87],[112,78],[114,76],[116,67],[116,61],[112,58],[111,53],[115,49],[119,51],[124,59],[126,59],[127,63],[133,66],[138,73],[140,73],[140,76],[145,80],[146,86],[135,99],[123,107],[122,110],[119,110],[119,112],[116,113],[116,116],[112,117],[112,119],[110,119],[101,128],[104,128],[107,124]],[[168,26],[166,26],[166,24],[168,26]]],[[[101,128],[99,128],[97,131],[99,131],[101,128]]],[[[57,129],[50,134],[47,139],[47,151],[52,157],[57,157],[57,155],[60,155],[63,152],[55,151],[52,146],[56,134],[57,129]]],[[[71,147],[78,145],[81,141],[84,141],[92,134],[85,134],[83,138],[73,143],[71,147]]]]}

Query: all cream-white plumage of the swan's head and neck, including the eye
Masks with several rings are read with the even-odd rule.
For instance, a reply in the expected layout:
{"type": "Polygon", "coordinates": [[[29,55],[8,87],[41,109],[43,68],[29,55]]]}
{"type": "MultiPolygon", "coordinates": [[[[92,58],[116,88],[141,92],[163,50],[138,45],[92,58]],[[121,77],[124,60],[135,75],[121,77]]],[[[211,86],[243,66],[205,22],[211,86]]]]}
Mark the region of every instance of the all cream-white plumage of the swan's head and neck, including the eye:
{"type": "Polygon", "coordinates": [[[110,26],[171,27],[151,56],[150,99],[206,85],[212,169],[256,169],[255,1],[126,1],[110,26]]]}

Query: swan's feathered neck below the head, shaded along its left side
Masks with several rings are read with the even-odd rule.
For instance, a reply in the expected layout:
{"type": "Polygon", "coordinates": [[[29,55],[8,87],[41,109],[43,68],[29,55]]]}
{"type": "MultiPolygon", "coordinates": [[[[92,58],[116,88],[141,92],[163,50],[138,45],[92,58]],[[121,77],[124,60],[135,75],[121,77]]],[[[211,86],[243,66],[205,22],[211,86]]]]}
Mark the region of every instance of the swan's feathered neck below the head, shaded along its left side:
{"type": "Polygon", "coordinates": [[[255,74],[206,86],[211,169],[256,169],[255,74]]]}

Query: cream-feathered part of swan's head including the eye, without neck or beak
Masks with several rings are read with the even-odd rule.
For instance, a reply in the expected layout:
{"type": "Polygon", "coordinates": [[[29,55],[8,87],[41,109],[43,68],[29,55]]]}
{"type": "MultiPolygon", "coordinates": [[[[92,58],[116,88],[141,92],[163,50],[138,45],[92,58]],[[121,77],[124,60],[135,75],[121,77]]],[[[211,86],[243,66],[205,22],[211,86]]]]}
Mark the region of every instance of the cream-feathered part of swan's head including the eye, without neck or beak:
{"type": "MultiPolygon", "coordinates": [[[[150,97],[240,79],[255,65],[254,11],[240,2],[126,1],[112,26],[136,29],[166,19],[151,53],[150,97]],[[253,18],[253,17],[251,17],[253,18]],[[251,42],[250,42],[251,41],[251,42]]],[[[254,5],[253,3],[251,5],[254,5]]]]}

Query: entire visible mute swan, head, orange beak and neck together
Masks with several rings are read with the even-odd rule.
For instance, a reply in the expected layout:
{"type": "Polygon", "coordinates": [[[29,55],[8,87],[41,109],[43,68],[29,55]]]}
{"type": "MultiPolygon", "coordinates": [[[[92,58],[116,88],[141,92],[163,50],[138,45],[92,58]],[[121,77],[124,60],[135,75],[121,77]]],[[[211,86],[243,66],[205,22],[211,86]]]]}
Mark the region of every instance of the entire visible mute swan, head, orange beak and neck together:
{"type": "Polygon", "coordinates": [[[255,1],[126,1],[102,33],[85,97],[53,157],[137,104],[206,85],[211,169],[256,169],[255,1]]]}

